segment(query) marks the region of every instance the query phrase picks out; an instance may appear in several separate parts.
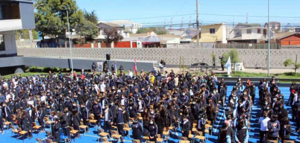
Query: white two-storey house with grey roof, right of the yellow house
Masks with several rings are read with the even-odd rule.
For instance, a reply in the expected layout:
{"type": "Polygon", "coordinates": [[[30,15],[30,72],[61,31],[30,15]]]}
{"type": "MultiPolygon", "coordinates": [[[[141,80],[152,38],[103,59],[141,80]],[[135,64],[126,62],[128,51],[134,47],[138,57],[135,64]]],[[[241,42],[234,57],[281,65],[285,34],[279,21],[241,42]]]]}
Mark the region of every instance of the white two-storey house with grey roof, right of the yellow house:
{"type": "MultiPolygon", "coordinates": [[[[235,33],[228,39],[230,43],[264,43],[268,40],[268,29],[262,27],[246,27],[235,29],[235,33]]],[[[274,38],[274,31],[270,30],[270,39],[274,38]]]]}

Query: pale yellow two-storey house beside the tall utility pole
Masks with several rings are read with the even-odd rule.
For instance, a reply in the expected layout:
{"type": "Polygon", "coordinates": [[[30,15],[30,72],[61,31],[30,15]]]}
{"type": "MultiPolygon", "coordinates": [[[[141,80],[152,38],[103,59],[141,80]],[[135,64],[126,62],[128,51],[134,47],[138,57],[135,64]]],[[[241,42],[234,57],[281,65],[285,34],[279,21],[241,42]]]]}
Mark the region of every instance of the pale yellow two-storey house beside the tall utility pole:
{"type": "Polygon", "coordinates": [[[225,22],[200,26],[199,42],[227,43],[227,26],[225,22]]]}

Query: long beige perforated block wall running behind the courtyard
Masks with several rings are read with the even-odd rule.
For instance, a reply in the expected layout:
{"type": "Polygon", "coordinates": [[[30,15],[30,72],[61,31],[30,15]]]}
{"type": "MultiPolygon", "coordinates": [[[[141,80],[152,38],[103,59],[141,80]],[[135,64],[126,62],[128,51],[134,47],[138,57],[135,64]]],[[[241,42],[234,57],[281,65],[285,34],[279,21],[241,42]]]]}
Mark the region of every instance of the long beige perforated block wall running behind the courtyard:
{"type": "MultiPolygon", "coordinates": [[[[168,48],[73,48],[73,57],[82,58],[105,58],[105,54],[110,54],[112,59],[160,61],[164,59],[168,65],[179,65],[179,57],[184,57],[184,65],[196,62],[204,62],[212,65],[211,53],[216,56],[229,51],[230,49],[168,49],[168,48]]],[[[266,49],[237,49],[241,62],[246,67],[266,67],[266,49]]],[[[300,50],[270,50],[270,68],[285,68],[282,63],[290,58],[295,60],[296,54],[300,50]]],[[[26,48],[17,49],[19,56],[50,56],[69,57],[69,48],[26,48]]],[[[219,59],[217,58],[217,66],[219,59]]]]}

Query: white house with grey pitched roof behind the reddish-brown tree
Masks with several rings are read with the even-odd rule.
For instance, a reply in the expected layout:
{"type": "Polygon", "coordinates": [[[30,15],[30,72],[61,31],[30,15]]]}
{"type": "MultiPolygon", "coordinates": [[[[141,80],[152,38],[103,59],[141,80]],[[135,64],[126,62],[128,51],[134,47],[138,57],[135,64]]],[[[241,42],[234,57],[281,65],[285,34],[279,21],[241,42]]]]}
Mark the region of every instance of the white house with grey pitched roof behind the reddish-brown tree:
{"type": "Polygon", "coordinates": [[[99,27],[99,33],[96,38],[94,38],[94,41],[105,41],[105,34],[104,29],[116,29],[117,32],[122,35],[124,38],[129,37],[129,31],[124,30],[124,26],[118,25],[111,22],[100,22],[97,24],[99,27]]]}

